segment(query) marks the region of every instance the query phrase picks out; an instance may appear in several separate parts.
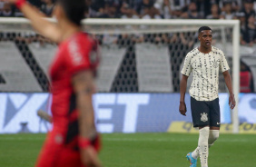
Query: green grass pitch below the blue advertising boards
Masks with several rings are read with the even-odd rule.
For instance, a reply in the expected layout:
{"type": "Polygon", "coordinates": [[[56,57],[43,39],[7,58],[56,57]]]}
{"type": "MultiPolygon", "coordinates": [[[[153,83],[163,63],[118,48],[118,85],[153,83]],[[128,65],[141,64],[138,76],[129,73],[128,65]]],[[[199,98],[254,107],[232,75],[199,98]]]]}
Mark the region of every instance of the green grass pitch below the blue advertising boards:
{"type": "MultiPolygon", "coordinates": [[[[33,167],[45,134],[1,134],[0,166],[33,167]]],[[[189,167],[185,156],[198,134],[103,134],[100,158],[105,167],[189,167]]],[[[210,149],[211,167],[255,167],[256,135],[221,134],[210,149]]],[[[200,166],[200,161],[198,161],[200,166]]]]}

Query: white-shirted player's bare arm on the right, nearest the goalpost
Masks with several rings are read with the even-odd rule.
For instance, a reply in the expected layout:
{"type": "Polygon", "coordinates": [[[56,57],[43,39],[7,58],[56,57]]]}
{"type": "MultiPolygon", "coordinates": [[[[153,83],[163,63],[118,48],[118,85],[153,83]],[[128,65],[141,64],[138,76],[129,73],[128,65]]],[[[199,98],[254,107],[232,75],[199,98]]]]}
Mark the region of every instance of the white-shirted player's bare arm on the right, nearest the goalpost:
{"type": "Polygon", "coordinates": [[[222,74],[224,76],[225,83],[226,83],[229,93],[230,93],[229,104],[230,104],[231,109],[233,109],[236,105],[236,102],[235,102],[235,98],[234,98],[234,94],[233,94],[231,74],[229,73],[229,71],[225,71],[222,74]]]}

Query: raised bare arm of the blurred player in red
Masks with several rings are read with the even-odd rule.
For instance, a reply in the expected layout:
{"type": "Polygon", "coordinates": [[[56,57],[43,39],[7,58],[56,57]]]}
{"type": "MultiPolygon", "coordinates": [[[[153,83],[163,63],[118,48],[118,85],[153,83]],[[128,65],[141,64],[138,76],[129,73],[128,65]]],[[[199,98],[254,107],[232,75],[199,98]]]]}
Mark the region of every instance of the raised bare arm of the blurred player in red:
{"type": "MultiPolygon", "coordinates": [[[[25,0],[6,0],[6,2],[10,2],[12,4],[16,4],[18,1],[21,2],[25,0]]],[[[58,6],[56,5],[56,7],[58,6]]],[[[54,25],[54,23],[45,20],[44,15],[40,14],[40,12],[35,7],[25,3],[24,5],[21,5],[20,10],[25,15],[25,17],[31,21],[31,25],[33,25],[34,29],[39,34],[42,34],[44,37],[54,41],[55,43],[60,42],[60,29],[57,27],[57,25],[54,25]]]]}

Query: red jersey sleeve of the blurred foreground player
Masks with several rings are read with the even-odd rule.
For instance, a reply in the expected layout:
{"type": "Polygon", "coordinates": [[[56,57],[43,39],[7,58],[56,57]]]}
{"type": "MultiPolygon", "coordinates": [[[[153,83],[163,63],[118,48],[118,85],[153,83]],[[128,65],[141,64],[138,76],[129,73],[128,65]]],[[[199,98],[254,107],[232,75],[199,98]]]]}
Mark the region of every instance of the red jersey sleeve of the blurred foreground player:
{"type": "Polygon", "coordinates": [[[74,38],[67,44],[66,64],[70,74],[91,69],[90,53],[92,43],[74,38]]]}

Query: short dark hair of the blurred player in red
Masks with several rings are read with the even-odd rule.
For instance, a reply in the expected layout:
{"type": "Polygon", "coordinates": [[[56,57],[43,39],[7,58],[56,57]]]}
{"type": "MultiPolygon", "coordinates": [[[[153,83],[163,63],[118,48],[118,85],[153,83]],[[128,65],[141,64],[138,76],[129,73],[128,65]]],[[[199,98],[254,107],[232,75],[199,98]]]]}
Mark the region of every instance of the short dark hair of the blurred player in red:
{"type": "Polygon", "coordinates": [[[74,25],[81,25],[84,19],[84,12],[87,8],[85,0],[57,0],[59,5],[64,8],[64,13],[74,25]]]}

